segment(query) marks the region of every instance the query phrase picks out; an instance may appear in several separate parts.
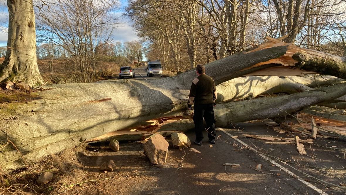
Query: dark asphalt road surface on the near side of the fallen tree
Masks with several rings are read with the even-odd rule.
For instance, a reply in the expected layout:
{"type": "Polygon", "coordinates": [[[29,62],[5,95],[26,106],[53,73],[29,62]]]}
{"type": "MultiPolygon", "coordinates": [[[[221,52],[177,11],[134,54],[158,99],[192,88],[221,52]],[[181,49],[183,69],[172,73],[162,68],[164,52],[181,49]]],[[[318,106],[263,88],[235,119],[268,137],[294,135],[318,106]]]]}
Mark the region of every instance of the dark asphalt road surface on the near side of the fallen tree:
{"type": "Polygon", "coordinates": [[[114,179],[97,184],[104,189],[115,186],[116,194],[345,194],[338,189],[338,186],[343,187],[346,175],[345,140],[317,138],[312,144],[304,143],[307,155],[300,155],[294,143],[267,144],[264,140],[243,136],[309,138],[299,132],[282,129],[277,132],[273,125],[249,121],[237,123],[235,128],[218,128],[218,138],[212,146],[206,132],[202,146],[193,143],[193,130],[185,132],[192,141],[191,148],[200,153],[190,148],[173,148],[170,137],[167,137],[170,146],[167,161],[161,169],[150,163],[143,153],[144,145],[139,142],[122,141],[117,152],[104,147],[79,158],[89,173],[102,174],[102,178],[117,174],[114,179]],[[100,173],[99,166],[110,159],[119,167],[119,173],[100,173]],[[318,179],[336,186],[333,189],[318,179]]]}

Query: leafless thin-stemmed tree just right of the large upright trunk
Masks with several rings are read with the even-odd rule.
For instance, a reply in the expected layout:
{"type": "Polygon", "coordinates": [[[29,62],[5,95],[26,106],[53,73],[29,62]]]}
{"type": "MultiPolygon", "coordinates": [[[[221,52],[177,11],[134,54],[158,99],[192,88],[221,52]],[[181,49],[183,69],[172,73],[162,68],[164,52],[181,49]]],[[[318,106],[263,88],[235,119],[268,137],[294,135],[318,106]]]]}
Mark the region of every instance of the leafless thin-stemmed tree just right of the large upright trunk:
{"type": "Polygon", "coordinates": [[[97,52],[111,42],[113,29],[119,24],[117,1],[68,0],[45,2],[38,6],[38,39],[52,42],[69,53],[78,82],[94,81],[97,52]],[[45,9],[43,9],[45,8],[45,9]]]}

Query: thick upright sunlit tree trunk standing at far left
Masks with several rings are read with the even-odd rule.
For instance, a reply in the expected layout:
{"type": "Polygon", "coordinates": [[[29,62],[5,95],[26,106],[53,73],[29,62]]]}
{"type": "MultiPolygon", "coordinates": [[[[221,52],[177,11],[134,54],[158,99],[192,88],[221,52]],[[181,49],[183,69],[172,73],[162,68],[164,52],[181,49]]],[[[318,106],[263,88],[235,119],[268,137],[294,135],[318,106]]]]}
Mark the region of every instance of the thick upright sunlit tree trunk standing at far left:
{"type": "Polygon", "coordinates": [[[7,52],[0,66],[0,82],[43,84],[36,59],[36,32],[33,1],[8,0],[7,52]]]}

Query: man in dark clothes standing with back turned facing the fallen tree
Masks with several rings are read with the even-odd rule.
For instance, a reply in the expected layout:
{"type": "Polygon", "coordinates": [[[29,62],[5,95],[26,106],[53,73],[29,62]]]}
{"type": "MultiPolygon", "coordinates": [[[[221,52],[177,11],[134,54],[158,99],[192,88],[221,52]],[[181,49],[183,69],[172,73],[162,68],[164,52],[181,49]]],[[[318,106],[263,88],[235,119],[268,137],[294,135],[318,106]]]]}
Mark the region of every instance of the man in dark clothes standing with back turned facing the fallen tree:
{"type": "Polygon", "coordinates": [[[198,75],[192,81],[188,108],[191,109],[191,106],[194,102],[194,114],[193,122],[195,124],[195,133],[196,139],[195,144],[201,146],[203,140],[203,118],[208,126],[208,138],[209,142],[214,144],[216,138],[215,131],[215,119],[214,119],[214,107],[216,100],[216,87],[214,80],[206,75],[206,69],[203,65],[197,65],[196,74],[198,75]]]}

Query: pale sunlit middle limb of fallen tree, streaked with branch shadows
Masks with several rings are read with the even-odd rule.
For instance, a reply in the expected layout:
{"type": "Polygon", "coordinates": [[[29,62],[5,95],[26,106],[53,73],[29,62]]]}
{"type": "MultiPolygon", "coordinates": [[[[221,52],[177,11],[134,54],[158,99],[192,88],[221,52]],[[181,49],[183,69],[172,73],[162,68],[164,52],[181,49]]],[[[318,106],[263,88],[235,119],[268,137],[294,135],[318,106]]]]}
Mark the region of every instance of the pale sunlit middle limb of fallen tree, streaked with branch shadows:
{"type": "MultiPolygon", "coordinates": [[[[342,84],[346,81],[333,76],[246,76],[238,77],[216,86],[216,102],[253,99],[258,95],[274,93],[299,93],[310,91],[312,87],[342,84]]],[[[334,105],[331,105],[334,106],[334,105]]]]}

